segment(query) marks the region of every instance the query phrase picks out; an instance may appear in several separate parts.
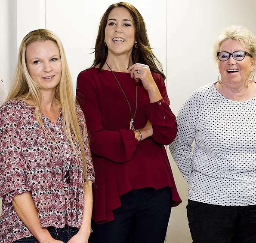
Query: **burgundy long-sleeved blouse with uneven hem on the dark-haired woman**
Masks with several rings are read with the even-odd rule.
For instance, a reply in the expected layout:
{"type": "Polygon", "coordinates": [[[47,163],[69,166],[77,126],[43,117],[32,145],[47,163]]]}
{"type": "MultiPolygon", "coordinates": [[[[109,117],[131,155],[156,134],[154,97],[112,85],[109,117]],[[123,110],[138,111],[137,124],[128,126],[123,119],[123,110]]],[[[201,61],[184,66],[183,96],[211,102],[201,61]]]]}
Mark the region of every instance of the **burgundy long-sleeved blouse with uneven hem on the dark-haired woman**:
{"type": "Polygon", "coordinates": [[[163,99],[150,103],[147,90],[139,82],[135,84],[130,73],[114,73],[133,114],[137,85],[138,107],[133,124],[140,129],[150,120],[153,135],[139,142],[129,129],[130,109],[111,71],[90,68],[80,72],[77,102],[85,114],[90,135],[96,172],[93,219],[98,223],[114,220],[112,211],[120,207],[120,196],[132,189],[169,186],[172,206],[181,202],[163,146],[176,137],[177,124],[162,76],[152,72],[163,99]]]}

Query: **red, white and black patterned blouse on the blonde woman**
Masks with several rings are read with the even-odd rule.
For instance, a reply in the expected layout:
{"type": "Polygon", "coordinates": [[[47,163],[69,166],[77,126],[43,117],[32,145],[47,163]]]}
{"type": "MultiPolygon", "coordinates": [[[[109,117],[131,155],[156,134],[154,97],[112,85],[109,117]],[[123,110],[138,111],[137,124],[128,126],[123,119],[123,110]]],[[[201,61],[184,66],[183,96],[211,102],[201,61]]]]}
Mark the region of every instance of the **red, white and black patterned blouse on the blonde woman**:
{"type": "MultiPolygon", "coordinates": [[[[83,218],[84,182],[80,147],[72,135],[74,153],[62,125],[62,110],[53,123],[43,116],[40,127],[34,106],[10,100],[0,108],[0,242],[11,243],[32,236],[12,206],[12,198],[30,192],[43,228],[80,228],[83,218]],[[78,160],[77,160],[78,158],[78,160]],[[70,182],[66,178],[70,171],[70,182]]],[[[88,180],[94,181],[89,140],[83,112],[77,106],[80,130],[86,153],[88,180]]]]}

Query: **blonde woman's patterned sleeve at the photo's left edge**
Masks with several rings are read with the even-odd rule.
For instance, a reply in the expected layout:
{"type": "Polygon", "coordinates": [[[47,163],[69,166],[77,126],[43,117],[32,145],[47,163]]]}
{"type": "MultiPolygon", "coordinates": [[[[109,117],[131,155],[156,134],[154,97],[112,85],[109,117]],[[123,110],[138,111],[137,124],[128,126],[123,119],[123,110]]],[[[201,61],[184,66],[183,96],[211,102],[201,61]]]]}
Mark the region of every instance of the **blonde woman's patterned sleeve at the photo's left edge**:
{"type": "Polygon", "coordinates": [[[30,192],[21,149],[23,117],[8,104],[0,110],[0,197],[8,204],[12,198],[30,192]]]}

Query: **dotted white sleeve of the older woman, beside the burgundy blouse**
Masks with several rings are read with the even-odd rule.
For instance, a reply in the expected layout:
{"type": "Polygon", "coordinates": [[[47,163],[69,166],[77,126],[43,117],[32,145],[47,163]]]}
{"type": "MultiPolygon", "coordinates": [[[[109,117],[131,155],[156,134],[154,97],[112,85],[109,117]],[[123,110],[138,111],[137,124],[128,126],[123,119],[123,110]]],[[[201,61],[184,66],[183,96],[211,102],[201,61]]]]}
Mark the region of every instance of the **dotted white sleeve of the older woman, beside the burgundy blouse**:
{"type": "Polygon", "coordinates": [[[177,136],[169,145],[173,159],[187,182],[189,182],[193,171],[192,143],[195,138],[201,97],[199,92],[194,91],[184,102],[177,115],[179,127],[177,136]]]}

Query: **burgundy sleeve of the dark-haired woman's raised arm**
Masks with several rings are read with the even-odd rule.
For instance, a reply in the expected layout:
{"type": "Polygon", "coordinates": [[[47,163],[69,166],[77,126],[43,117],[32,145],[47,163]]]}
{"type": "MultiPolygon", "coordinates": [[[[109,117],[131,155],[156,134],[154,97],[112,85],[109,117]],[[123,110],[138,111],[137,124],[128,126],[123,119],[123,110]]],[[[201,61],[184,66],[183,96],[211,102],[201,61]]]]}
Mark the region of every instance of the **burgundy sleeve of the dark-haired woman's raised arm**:
{"type": "Polygon", "coordinates": [[[153,126],[152,138],[160,144],[169,145],[177,134],[176,117],[171,111],[170,100],[160,74],[154,75],[154,80],[161,93],[162,99],[146,105],[148,120],[153,126]]]}

